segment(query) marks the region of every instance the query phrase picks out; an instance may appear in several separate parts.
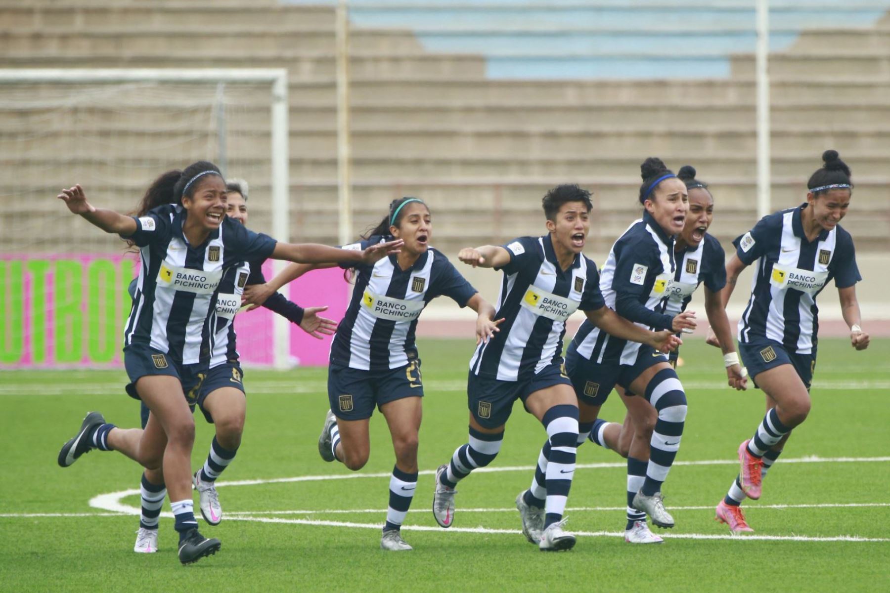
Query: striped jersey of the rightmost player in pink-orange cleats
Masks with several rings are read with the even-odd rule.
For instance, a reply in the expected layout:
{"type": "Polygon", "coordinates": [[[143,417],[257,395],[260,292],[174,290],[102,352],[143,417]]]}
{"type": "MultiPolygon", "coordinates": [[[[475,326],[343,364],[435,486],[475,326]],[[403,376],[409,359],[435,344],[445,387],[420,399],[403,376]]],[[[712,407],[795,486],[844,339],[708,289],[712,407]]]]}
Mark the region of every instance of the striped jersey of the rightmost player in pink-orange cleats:
{"type": "Polygon", "coordinates": [[[734,242],[736,255],[754,264],[751,297],[739,321],[739,341],[780,342],[811,354],[819,332],[816,296],[834,278],[837,288],[860,280],[853,237],[837,225],[807,241],[801,213],[807,204],[762,218],[734,242]]]}

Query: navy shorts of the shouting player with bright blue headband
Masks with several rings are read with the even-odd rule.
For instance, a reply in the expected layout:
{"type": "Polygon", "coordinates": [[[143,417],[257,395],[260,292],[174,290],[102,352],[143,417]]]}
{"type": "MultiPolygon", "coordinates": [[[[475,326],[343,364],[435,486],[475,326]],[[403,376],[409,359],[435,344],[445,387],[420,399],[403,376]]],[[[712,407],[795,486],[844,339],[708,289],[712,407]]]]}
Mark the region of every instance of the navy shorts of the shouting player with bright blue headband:
{"type": "Polygon", "coordinates": [[[620,365],[618,360],[597,363],[578,354],[575,342],[569,344],[565,355],[565,368],[569,372],[572,387],[578,401],[586,405],[603,405],[612,389],[620,385],[628,396],[630,384],[652,365],[670,362],[667,356],[651,346],[642,344],[633,365],[620,365]]]}

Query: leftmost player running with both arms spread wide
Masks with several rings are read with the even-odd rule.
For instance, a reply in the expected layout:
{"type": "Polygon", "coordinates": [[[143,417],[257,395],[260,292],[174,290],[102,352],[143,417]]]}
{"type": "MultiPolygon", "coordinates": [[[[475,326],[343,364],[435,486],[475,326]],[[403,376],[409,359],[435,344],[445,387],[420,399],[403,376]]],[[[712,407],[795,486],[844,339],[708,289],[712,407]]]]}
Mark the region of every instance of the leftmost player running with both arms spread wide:
{"type": "Polygon", "coordinates": [[[95,208],[79,185],[63,189],[58,196],[70,212],[140,247],[136,298],[125,327],[124,363],[132,381],[127,393],[142,399],[151,411],[144,431],[117,429],[101,413],[88,413],[77,435],[62,446],[58,461],[68,467],[83,453],[98,448],[120,451],[144,468],[163,465],[175,529],[180,533],[179,559],[188,564],[214,554],[221,545],[198,533],[192,512],[190,455],[195,423],[188,404],[206,374],[224,272],[245,260],[270,256],[303,262],[373,263],[399,244],[351,252],[325,245],[277,243],[257,235],[226,218],[223,176],[214,164],[204,161],[182,172],[165,173],[149,190],[163,192],[166,204],[138,218],[95,208]]]}

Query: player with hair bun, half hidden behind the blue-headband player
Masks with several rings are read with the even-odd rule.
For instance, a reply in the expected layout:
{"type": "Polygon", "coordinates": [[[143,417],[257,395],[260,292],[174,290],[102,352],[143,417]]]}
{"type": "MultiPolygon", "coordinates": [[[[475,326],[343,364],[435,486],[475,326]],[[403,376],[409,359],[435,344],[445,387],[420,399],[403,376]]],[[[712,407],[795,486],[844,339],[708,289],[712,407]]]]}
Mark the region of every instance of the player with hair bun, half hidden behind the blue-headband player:
{"type": "MultiPolygon", "coordinates": [[[[724,366],[729,385],[734,389],[747,389],[747,379],[739,365],[739,355],[731,343],[732,333],[726,310],[720,299],[720,291],[726,284],[725,256],[723,247],[711,235],[708,228],[714,220],[714,196],[708,184],[695,179],[695,169],[685,165],[677,177],[686,185],[689,194],[689,211],[683,231],[676,236],[674,258],[676,272],[667,298],[665,313],[676,316],[686,310],[692,300],[692,292],[700,284],[705,285],[705,311],[708,322],[723,339],[724,366]]],[[[670,353],[669,362],[676,369],[678,349],[670,353]]],[[[649,443],[652,430],[658,420],[658,412],[641,397],[627,396],[624,388],[615,386],[621,401],[627,406],[624,424],[597,419],[590,432],[590,440],[635,460],[649,461],[649,443]]],[[[651,533],[645,515],[633,513],[627,517],[624,536],[629,543],[659,543],[661,538],[651,533]]]]}

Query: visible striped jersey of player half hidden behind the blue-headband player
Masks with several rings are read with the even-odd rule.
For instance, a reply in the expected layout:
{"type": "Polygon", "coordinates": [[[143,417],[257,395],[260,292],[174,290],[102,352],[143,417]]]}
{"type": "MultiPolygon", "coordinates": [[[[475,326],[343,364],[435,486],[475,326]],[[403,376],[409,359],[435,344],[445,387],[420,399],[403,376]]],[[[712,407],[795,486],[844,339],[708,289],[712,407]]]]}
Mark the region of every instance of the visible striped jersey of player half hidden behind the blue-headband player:
{"type": "Polygon", "coordinates": [[[713,236],[705,235],[695,249],[687,249],[676,258],[674,283],[667,297],[665,313],[671,317],[683,313],[692,301],[692,292],[702,282],[710,292],[720,292],[726,285],[726,255],[720,242],[713,236]]]}

